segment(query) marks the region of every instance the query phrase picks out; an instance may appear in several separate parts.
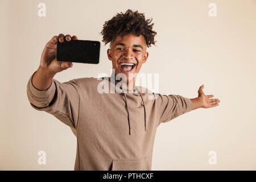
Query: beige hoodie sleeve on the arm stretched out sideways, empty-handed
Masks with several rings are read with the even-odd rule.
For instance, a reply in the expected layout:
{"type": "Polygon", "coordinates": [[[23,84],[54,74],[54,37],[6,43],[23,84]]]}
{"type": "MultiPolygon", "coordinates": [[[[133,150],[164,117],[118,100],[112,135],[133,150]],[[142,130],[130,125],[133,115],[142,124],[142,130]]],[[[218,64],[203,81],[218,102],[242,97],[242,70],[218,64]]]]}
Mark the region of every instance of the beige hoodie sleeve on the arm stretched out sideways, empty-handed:
{"type": "Polygon", "coordinates": [[[168,122],[181,114],[187,113],[193,109],[192,101],[189,98],[179,95],[158,94],[159,105],[159,123],[168,122]]]}

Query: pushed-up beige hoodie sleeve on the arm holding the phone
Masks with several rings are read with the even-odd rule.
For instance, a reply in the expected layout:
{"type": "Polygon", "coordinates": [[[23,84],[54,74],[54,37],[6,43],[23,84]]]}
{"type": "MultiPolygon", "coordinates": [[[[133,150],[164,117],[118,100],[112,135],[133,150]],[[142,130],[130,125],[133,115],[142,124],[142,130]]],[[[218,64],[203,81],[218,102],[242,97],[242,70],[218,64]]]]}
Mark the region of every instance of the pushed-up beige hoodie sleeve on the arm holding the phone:
{"type": "Polygon", "coordinates": [[[46,90],[36,89],[32,77],[27,83],[27,97],[30,105],[39,111],[52,114],[66,125],[75,128],[79,117],[80,87],[76,80],[60,83],[53,79],[46,90]]]}

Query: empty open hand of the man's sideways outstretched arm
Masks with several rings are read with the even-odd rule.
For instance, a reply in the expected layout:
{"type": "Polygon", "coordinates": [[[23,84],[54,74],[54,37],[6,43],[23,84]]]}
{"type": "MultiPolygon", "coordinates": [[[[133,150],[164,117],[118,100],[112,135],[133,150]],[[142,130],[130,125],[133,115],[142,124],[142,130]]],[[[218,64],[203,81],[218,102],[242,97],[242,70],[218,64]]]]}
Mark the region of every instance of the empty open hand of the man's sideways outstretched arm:
{"type": "Polygon", "coordinates": [[[204,88],[204,85],[201,85],[198,90],[198,97],[190,99],[193,104],[192,110],[198,109],[200,107],[209,108],[209,107],[218,106],[218,102],[220,102],[220,100],[218,100],[218,98],[212,98],[213,95],[205,95],[203,92],[203,88],[204,88]]]}

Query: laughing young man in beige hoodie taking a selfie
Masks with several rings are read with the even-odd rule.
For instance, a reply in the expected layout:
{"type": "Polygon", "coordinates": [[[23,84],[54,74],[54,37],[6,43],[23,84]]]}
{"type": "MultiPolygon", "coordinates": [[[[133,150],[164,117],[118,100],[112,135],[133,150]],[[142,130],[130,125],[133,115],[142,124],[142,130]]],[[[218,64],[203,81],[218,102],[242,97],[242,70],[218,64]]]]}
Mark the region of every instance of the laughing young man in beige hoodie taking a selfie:
{"type": "Polygon", "coordinates": [[[85,77],[60,83],[53,77],[71,68],[72,63],[55,59],[56,42],[77,40],[77,36],[60,34],[46,44],[39,68],[28,80],[27,96],[34,109],[54,115],[75,133],[75,170],[151,170],[155,133],[160,123],[220,102],[209,99],[213,95],[204,94],[204,85],[198,90],[199,97],[192,99],[156,95],[135,86],[136,75],[148,57],[146,48],[155,43],[151,20],[138,11],[127,10],[105,22],[101,34],[105,44],[110,42],[111,77],[85,77]],[[118,74],[126,76],[120,79],[121,85],[115,80],[118,74]],[[99,92],[101,84],[108,85],[108,92],[99,92]],[[113,87],[114,93],[110,92],[113,87]]]}

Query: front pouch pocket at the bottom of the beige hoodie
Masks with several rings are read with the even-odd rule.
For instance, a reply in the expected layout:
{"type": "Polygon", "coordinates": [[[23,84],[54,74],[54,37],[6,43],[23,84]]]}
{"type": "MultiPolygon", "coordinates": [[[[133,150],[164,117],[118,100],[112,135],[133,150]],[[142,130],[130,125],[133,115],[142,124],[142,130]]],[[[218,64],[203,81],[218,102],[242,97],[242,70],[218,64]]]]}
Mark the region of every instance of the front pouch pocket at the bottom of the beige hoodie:
{"type": "Polygon", "coordinates": [[[147,156],[138,159],[113,159],[111,171],[144,171],[149,170],[147,156]]]}

